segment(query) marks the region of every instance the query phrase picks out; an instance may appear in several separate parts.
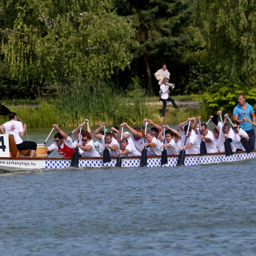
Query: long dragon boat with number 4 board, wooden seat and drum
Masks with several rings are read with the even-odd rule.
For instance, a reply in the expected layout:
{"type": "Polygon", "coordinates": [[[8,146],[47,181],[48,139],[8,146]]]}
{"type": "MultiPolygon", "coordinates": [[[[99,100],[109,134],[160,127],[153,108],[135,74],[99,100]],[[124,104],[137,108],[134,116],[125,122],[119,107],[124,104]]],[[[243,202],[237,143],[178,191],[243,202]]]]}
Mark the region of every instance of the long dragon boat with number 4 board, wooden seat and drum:
{"type": "MultiPolygon", "coordinates": [[[[40,169],[67,169],[70,167],[71,157],[47,157],[44,144],[38,144],[38,150],[34,158],[27,157],[26,151],[17,150],[13,135],[3,134],[0,136],[0,170],[6,172],[40,170],[40,169]]],[[[168,162],[161,165],[161,156],[148,156],[147,167],[174,167],[178,155],[169,155],[168,162]]],[[[184,166],[196,166],[212,163],[234,162],[256,158],[256,150],[251,153],[245,151],[233,152],[226,156],[225,153],[213,153],[200,156],[199,154],[186,155],[184,166]]],[[[78,168],[115,167],[117,157],[110,162],[103,163],[103,157],[80,157],[78,168]]],[[[140,157],[122,157],[122,167],[139,167],[140,157]]]]}

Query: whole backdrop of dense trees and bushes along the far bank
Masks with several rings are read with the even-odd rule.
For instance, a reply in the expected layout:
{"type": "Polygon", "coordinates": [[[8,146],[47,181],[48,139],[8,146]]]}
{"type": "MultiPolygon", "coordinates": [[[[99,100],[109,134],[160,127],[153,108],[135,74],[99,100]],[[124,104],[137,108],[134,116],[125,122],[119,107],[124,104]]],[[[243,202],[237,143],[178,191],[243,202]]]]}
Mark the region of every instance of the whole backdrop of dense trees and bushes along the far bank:
{"type": "Polygon", "coordinates": [[[0,0],[2,97],[56,86],[75,106],[78,88],[103,100],[95,88],[111,81],[126,98],[134,79],[157,94],[154,73],[166,63],[174,94],[200,95],[206,111],[232,109],[240,92],[254,104],[255,13],[239,0],[0,0]]]}

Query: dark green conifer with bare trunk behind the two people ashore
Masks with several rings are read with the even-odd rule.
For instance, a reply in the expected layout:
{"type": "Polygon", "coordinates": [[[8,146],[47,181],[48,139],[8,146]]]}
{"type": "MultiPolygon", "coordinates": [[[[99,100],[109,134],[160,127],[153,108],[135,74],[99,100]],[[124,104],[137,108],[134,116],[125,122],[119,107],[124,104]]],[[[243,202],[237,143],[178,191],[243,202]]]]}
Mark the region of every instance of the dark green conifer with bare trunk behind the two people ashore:
{"type": "Polygon", "coordinates": [[[161,67],[161,63],[172,62],[175,66],[186,61],[191,31],[191,1],[116,0],[115,3],[118,13],[129,17],[137,30],[139,44],[134,49],[134,56],[143,61],[148,93],[152,94],[152,74],[161,67]]]}

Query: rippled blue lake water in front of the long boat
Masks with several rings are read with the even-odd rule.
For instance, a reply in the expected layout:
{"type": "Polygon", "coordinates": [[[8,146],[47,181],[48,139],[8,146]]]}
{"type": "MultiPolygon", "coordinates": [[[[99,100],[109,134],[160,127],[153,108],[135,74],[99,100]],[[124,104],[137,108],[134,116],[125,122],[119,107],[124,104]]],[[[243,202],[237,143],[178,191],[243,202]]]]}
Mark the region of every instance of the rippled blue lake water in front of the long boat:
{"type": "Polygon", "coordinates": [[[256,255],[255,169],[246,160],[2,172],[0,253],[256,255]]]}

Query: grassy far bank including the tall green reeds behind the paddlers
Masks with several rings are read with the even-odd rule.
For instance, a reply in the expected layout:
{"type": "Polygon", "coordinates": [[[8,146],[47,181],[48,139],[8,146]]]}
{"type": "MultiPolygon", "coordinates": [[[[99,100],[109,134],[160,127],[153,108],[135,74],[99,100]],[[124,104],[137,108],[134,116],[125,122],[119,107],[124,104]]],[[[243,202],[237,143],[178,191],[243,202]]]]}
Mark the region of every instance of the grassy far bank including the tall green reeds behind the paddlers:
{"type": "MultiPolygon", "coordinates": [[[[48,128],[54,123],[61,127],[75,127],[90,120],[91,125],[98,126],[101,122],[108,125],[143,123],[149,118],[154,123],[180,123],[190,116],[202,115],[203,108],[189,106],[174,110],[167,106],[166,117],[162,117],[162,104],[158,103],[158,96],[147,97],[139,82],[134,79],[133,84],[126,90],[120,88],[113,81],[97,81],[88,84],[83,80],[69,80],[57,89],[58,97],[54,99],[38,98],[37,100],[2,101],[27,124],[30,128],[48,128]],[[152,103],[152,104],[148,104],[152,103]]],[[[174,96],[175,101],[191,101],[194,96],[174,96]]],[[[206,119],[205,113],[205,119],[206,119]]],[[[0,117],[0,123],[8,121],[8,117],[0,117]]]]}

